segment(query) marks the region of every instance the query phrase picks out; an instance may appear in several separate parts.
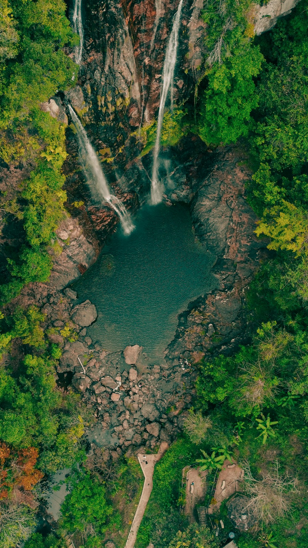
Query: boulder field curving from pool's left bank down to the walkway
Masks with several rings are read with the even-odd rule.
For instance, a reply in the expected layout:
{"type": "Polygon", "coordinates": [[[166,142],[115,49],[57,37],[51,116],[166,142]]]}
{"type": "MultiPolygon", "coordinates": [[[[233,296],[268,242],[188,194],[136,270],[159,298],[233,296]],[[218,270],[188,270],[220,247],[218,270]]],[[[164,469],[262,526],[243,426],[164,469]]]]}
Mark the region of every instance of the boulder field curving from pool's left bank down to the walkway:
{"type": "Polygon", "coordinates": [[[139,345],[107,352],[88,334],[87,327],[97,317],[92,302],[78,303],[70,288],[33,284],[32,289],[33,301],[46,316],[45,333],[62,350],[59,386],[65,390],[72,385],[82,392],[93,410],[90,443],[109,448],[107,453],[118,458],[140,447],[171,442],[182,427],[183,411],[191,405],[196,377],[191,367],[183,368],[179,358],[153,363],[139,345]]]}

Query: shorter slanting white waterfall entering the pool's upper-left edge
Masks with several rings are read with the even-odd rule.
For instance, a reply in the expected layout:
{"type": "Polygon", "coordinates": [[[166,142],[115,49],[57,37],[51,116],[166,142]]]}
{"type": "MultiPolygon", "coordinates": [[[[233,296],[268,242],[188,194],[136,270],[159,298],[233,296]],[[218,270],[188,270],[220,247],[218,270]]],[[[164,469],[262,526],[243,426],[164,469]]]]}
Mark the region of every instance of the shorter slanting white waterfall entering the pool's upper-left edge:
{"type": "Polygon", "coordinates": [[[130,219],[130,215],[122,202],[120,202],[116,196],[110,193],[109,186],[105,179],[105,175],[102,172],[101,164],[98,157],[96,156],[93,146],[88,139],[87,133],[85,133],[85,129],[83,128],[81,121],[79,120],[75,110],[73,110],[71,105],[69,105],[69,110],[72,121],[76,127],[79,143],[79,156],[82,161],[85,174],[88,178],[88,184],[91,193],[94,198],[96,198],[98,194],[110,204],[112,209],[114,209],[119,216],[123,231],[126,234],[129,234],[134,229],[134,225],[132,223],[132,220],[130,219]]]}

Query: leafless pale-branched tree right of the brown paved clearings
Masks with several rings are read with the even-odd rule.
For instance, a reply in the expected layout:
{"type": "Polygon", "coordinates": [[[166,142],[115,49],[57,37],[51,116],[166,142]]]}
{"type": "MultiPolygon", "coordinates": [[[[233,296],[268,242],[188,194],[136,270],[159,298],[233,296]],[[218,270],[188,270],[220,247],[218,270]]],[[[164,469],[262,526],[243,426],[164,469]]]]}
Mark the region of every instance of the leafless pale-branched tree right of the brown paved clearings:
{"type": "Polygon", "coordinates": [[[252,475],[247,461],[242,464],[246,493],[250,496],[255,516],[261,523],[273,523],[283,517],[290,510],[290,499],[293,493],[298,492],[297,480],[279,471],[278,461],[261,479],[252,475]]]}

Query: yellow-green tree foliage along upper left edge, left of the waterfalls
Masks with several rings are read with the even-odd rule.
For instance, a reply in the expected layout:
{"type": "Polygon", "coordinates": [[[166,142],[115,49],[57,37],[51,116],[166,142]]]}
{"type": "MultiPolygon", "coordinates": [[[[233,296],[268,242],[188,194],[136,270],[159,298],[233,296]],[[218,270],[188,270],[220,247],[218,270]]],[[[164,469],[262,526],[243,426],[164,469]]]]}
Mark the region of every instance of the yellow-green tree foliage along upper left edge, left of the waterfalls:
{"type": "MultiPolygon", "coordinates": [[[[1,286],[7,302],[25,283],[47,281],[52,261],[46,247],[64,214],[65,126],[39,104],[71,85],[76,65],[64,48],[78,42],[62,0],[4,1],[0,21],[0,155],[5,162],[37,162],[25,181],[21,203],[2,209],[24,219],[19,256],[8,257],[1,286]]],[[[5,197],[4,197],[5,198],[5,197]]]]}

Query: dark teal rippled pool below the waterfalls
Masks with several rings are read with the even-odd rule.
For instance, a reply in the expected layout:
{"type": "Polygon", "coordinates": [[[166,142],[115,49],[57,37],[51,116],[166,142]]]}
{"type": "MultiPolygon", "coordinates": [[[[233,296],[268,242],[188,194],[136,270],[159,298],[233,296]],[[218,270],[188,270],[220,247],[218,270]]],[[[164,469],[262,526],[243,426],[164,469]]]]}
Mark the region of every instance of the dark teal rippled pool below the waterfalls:
{"type": "Polygon", "coordinates": [[[101,255],[73,286],[90,299],[98,319],[88,328],[106,350],[139,344],[153,358],[173,339],[178,315],[190,301],[215,287],[213,258],[192,232],[182,205],[146,206],[135,230],[110,237],[101,255]]]}

